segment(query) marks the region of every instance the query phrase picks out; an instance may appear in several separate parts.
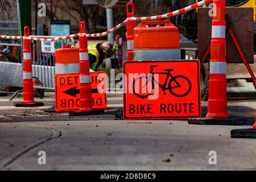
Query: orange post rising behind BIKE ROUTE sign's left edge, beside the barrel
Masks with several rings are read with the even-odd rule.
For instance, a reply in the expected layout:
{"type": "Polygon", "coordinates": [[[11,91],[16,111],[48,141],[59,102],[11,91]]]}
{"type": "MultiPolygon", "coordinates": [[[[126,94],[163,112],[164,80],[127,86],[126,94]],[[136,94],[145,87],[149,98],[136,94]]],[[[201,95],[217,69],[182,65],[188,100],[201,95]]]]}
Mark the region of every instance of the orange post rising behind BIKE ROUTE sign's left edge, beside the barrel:
{"type": "MultiPolygon", "coordinates": [[[[126,5],[126,13],[127,18],[134,17],[134,5],[133,3],[129,2],[126,5]],[[131,7],[131,12],[129,8],[131,7]]],[[[134,28],[136,27],[136,22],[133,20],[127,20],[127,60],[133,60],[133,48],[134,48],[134,28]]]]}

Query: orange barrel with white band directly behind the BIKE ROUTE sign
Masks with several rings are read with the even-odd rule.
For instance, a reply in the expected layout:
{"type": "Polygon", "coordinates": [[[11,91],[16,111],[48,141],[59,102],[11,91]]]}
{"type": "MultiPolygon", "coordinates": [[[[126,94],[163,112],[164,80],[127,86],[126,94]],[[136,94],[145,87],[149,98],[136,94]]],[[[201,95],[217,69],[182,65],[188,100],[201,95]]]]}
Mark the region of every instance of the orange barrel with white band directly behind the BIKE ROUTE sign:
{"type": "Polygon", "coordinates": [[[170,20],[142,21],[134,28],[134,60],[179,59],[179,28],[170,20]],[[164,26],[149,27],[153,24],[164,26]]]}

